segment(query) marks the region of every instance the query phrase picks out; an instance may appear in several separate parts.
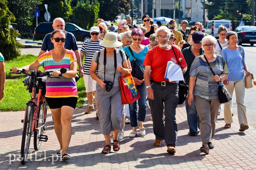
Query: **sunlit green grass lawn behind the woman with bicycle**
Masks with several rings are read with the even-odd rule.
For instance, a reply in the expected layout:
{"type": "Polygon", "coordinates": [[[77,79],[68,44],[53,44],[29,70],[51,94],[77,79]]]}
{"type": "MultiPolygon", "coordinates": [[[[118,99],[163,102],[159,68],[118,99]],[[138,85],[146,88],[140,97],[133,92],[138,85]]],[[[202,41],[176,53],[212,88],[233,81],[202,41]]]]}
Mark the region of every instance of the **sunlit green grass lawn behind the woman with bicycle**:
{"type": "MultiPolygon", "coordinates": [[[[5,72],[9,75],[10,69],[14,66],[21,67],[28,63],[35,61],[37,56],[34,55],[22,55],[16,59],[5,62],[5,72]]],[[[44,70],[43,67],[39,67],[39,70],[44,70]]],[[[16,75],[16,74],[13,74],[16,75]]],[[[5,82],[4,98],[0,101],[0,111],[19,111],[25,110],[26,103],[31,98],[30,93],[26,90],[26,87],[22,83],[24,77],[18,79],[9,79],[5,82]]],[[[76,107],[82,107],[84,103],[85,87],[84,80],[80,78],[77,82],[78,100],[76,107]]]]}

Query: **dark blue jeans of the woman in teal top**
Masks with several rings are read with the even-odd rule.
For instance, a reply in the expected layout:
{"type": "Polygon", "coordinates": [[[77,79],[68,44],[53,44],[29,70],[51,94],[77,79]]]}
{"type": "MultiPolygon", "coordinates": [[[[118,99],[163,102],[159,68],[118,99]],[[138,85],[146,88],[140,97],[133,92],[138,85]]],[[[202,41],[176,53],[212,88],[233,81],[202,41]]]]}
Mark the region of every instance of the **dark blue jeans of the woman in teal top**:
{"type": "Polygon", "coordinates": [[[138,126],[138,121],[143,122],[146,117],[147,89],[145,82],[141,85],[136,85],[136,87],[140,94],[140,98],[138,99],[139,111],[137,113],[137,101],[129,104],[131,127],[138,126]]]}

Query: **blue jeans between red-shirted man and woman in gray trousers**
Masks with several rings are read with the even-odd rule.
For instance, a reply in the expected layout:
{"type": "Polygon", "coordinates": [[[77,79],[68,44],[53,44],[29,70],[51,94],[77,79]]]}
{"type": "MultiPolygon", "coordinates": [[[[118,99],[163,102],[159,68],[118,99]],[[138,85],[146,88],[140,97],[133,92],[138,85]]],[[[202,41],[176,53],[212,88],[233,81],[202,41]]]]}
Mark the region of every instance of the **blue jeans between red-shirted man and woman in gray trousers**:
{"type": "Polygon", "coordinates": [[[191,102],[191,105],[188,105],[188,98],[186,99],[186,111],[188,118],[189,134],[196,132],[197,133],[197,111],[195,99],[191,102]]]}

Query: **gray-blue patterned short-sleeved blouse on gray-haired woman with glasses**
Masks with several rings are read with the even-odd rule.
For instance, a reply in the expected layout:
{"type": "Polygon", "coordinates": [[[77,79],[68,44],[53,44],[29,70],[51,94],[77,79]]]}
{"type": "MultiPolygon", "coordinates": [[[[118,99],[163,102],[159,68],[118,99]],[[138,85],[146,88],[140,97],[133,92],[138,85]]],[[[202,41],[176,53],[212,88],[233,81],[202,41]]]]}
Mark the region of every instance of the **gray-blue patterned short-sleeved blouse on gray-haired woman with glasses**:
{"type": "MultiPolygon", "coordinates": [[[[209,64],[216,75],[228,74],[227,64],[220,55],[217,55],[216,59],[209,62],[209,64]]],[[[190,77],[196,77],[194,96],[199,96],[204,99],[219,98],[218,83],[212,80],[212,71],[201,56],[196,57],[193,61],[189,75],[190,77]]],[[[219,83],[222,85],[222,81],[219,81],[219,83]]]]}

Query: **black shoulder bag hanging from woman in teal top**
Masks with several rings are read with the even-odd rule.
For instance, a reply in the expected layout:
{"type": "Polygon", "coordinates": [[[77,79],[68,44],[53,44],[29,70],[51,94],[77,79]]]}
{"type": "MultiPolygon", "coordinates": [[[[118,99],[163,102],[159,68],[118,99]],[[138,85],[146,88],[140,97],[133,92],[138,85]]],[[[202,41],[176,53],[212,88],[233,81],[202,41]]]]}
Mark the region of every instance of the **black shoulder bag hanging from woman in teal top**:
{"type": "MultiPolygon", "coordinates": [[[[128,46],[128,49],[132,53],[132,49],[130,46],[128,46]]],[[[140,66],[139,61],[134,57],[133,53],[132,53],[132,57],[133,57],[133,60],[131,61],[131,66],[132,66],[131,74],[133,77],[136,77],[137,79],[142,80],[144,79],[144,68],[140,66]]]]}

